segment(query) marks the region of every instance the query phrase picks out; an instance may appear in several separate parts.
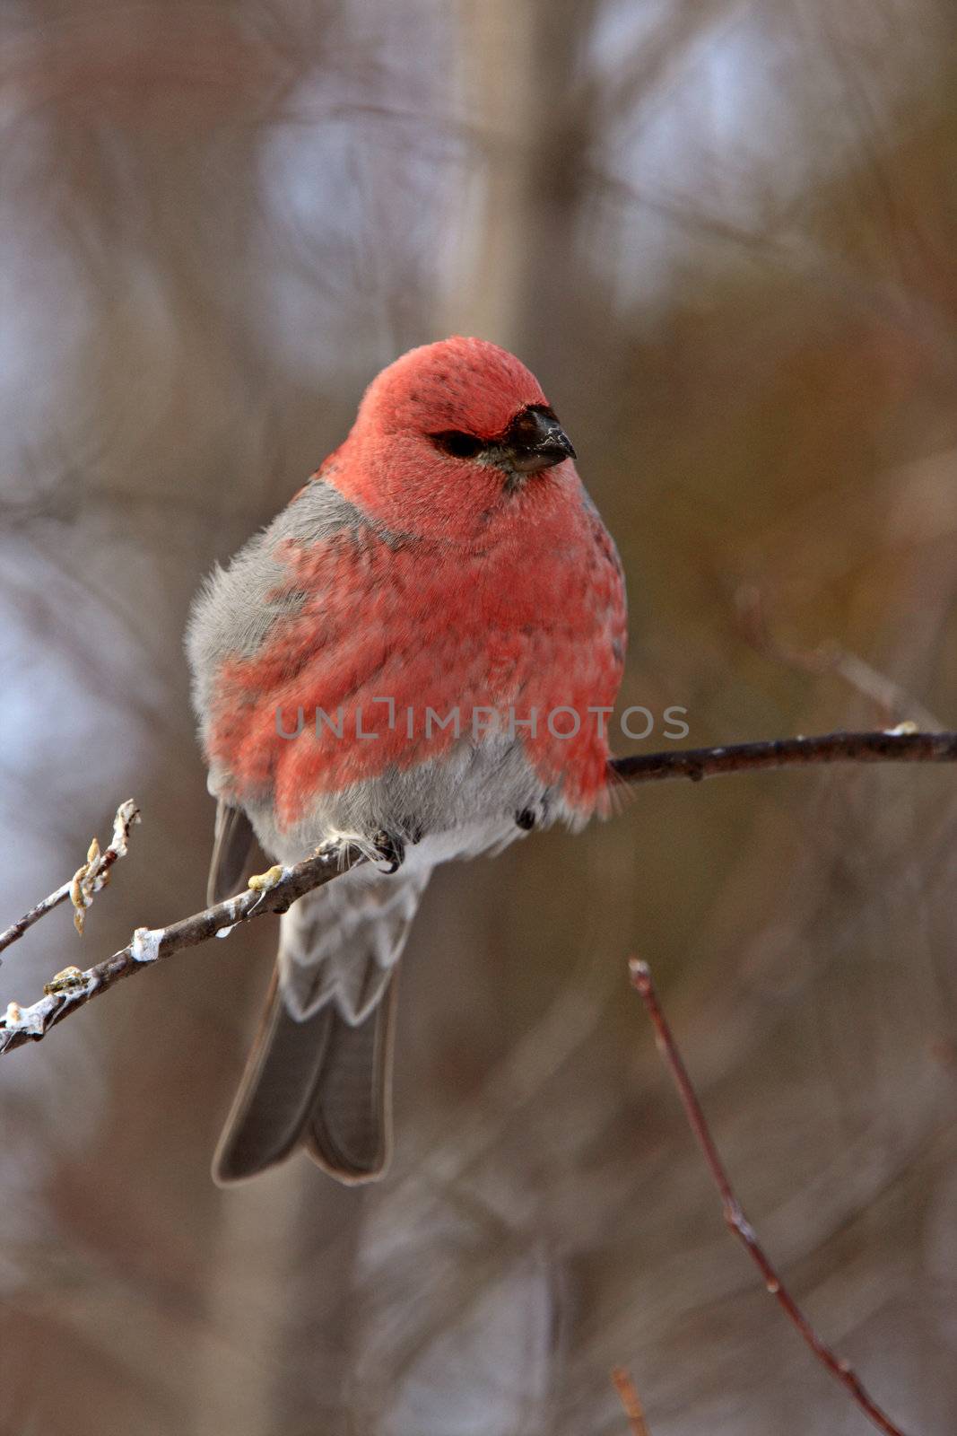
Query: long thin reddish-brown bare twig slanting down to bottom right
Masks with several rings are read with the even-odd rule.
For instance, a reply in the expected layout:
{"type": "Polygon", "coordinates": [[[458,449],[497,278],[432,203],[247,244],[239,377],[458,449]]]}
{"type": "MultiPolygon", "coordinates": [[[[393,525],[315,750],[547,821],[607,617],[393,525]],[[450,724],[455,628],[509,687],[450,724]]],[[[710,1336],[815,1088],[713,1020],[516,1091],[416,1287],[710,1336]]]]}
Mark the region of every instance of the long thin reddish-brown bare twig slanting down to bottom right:
{"type": "Polygon", "coordinates": [[[760,1272],[765,1287],[772,1297],[783,1307],[789,1320],[798,1328],[803,1340],[808,1343],[816,1358],[831,1371],[842,1386],[851,1393],[861,1410],[868,1416],[878,1430],[882,1430],[885,1436],[904,1436],[900,1426],[887,1416],[881,1407],[874,1402],[871,1396],[865,1391],[861,1380],[852,1370],[849,1361],[844,1357],[836,1356],[832,1348],[821,1340],[818,1333],[814,1330],[808,1318],[805,1317],[801,1307],[796,1304],[788,1288],[783,1285],[781,1275],[772,1265],[770,1259],[765,1254],[758,1236],[750,1226],[745,1212],[742,1211],[740,1202],[735,1196],[730,1180],[725,1170],[720,1156],[717,1155],[717,1147],[715,1146],[715,1139],[712,1137],[710,1129],[707,1126],[707,1119],[702,1110],[702,1104],[697,1100],[697,1093],[692,1086],[692,1078],[687,1074],[684,1061],[669,1027],[669,1021],[661,1011],[661,1005],[654,991],[654,984],[651,982],[651,972],[647,962],[640,962],[637,958],[631,958],[628,962],[628,972],[631,975],[631,984],[641,997],[646,1005],[649,1017],[654,1024],[654,1035],[657,1041],[659,1051],[671,1073],[674,1086],[677,1087],[684,1113],[689,1120],[689,1126],[694,1133],[694,1139],[700,1146],[704,1160],[707,1163],[709,1172],[712,1173],[712,1180],[717,1188],[722,1203],[725,1208],[725,1222],[735,1236],[743,1244],[749,1252],[752,1261],[760,1272]]]}

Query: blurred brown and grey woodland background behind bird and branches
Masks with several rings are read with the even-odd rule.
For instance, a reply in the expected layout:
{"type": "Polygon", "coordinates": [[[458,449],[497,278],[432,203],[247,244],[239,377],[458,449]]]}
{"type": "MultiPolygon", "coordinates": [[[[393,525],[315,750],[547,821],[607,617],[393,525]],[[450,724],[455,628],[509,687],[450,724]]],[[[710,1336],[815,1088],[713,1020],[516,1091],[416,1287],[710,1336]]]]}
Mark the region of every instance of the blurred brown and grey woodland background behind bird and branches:
{"type": "MultiPolygon", "coordinates": [[[[451,332],[517,350],[578,448],[624,702],[694,745],[954,727],[951,3],[0,24],[0,926],[143,811],[3,1005],[202,906],[189,597],[451,332]]],[[[723,1229],[636,949],[796,1295],[908,1432],[953,1430],[956,882],[956,775],[915,767],[644,787],[442,872],[364,1192],[209,1180],[271,919],[125,984],[0,1071],[1,1430],[624,1436],[621,1363],[653,1436],[864,1432],[723,1229]]]]}

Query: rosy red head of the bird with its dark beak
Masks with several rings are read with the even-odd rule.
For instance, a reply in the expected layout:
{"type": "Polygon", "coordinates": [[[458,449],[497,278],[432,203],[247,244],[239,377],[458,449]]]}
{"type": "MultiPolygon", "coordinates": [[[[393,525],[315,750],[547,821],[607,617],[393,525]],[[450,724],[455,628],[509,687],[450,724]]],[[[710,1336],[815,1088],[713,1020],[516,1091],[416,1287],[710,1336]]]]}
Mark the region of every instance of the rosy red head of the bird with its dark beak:
{"type": "Polygon", "coordinates": [[[373,379],[329,477],[396,534],[471,540],[508,516],[529,475],[558,477],[574,457],[525,365],[455,336],[373,379]]]}

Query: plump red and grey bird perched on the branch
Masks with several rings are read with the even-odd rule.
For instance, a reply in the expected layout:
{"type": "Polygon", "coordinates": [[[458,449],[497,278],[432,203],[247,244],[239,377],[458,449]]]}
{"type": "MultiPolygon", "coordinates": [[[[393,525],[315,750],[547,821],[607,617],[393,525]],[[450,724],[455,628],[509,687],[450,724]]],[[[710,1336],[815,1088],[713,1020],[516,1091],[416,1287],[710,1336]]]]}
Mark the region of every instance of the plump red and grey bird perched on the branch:
{"type": "Polygon", "coordinates": [[[624,584],[574,458],[511,353],[413,349],[194,603],[209,899],[244,886],[253,833],[280,863],[329,841],[376,859],[281,919],[220,1182],[300,1144],[343,1182],[380,1176],[397,964],[432,869],[608,808],[624,584]]]}

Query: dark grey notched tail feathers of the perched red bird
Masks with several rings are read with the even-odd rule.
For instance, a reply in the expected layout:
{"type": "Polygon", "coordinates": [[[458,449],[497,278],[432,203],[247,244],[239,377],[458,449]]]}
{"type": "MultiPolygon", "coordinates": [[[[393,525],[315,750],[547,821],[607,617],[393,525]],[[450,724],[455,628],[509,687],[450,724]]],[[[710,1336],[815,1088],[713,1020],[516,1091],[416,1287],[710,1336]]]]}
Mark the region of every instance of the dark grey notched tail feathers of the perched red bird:
{"type": "Polygon", "coordinates": [[[392,1149],[392,1037],[397,969],[357,1027],[327,1002],[304,1022],[277,976],[232,1111],[212,1159],[220,1185],[241,1182],[298,1146],[340,1182],[373,1182],[392,1149]]]}

